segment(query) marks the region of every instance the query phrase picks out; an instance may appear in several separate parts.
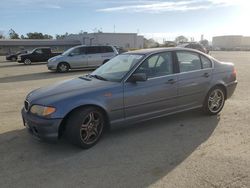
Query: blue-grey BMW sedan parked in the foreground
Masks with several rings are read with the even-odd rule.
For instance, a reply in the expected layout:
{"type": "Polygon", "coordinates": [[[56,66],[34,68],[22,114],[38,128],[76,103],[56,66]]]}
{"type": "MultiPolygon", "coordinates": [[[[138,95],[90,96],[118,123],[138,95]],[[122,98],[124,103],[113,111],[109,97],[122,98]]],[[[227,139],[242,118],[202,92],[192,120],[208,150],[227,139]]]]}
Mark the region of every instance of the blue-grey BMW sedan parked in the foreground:
{"type": "Polygon", "coordinates": [[[237,85],[232,63],[197,50],[146,49],[112,58],[94,72],[40,88],[24,102],[24,125],[38,138],[63,134],[82,148],[106,127],[202,108],[218,114],[237,85]]]}

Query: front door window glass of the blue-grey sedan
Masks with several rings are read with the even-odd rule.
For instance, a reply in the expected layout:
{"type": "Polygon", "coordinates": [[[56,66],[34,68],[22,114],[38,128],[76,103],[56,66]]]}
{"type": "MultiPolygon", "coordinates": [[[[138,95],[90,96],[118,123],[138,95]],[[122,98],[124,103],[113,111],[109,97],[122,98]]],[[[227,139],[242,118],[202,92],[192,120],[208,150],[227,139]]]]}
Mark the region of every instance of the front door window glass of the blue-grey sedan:
{"type": "Polygon", "coordinates": [[[148,78],[172,74],[173,62],[171,52],[152,55],[139,66],[136,73],[146,73],[148,78]]]}

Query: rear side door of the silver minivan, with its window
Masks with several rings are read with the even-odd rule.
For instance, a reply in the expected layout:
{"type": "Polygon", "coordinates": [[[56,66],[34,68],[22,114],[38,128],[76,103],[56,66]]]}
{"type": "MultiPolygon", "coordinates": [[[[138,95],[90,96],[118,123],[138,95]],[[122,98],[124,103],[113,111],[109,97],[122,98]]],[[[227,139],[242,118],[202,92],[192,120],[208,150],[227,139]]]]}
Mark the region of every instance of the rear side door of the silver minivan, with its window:
{"type": "Polygon", "coordinates": [[[89,67],[98,67],[102,65],[102,53],[99,46],[88,46],[86,47],[86,55],[88,58],[89,67]]]}

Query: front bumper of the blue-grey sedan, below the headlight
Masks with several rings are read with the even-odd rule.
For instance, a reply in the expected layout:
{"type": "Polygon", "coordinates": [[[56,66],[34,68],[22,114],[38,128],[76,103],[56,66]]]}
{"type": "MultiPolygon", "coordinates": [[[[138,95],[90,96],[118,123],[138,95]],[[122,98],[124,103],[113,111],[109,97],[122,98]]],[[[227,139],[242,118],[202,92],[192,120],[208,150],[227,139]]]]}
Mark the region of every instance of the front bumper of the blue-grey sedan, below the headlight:
{"type": "Polygon", "coordinates": [[[23,124],[36,138],[48,141],[58,139],[59,126],[62,119],[45,119],[26,112],[22,109],[23,124]]]}

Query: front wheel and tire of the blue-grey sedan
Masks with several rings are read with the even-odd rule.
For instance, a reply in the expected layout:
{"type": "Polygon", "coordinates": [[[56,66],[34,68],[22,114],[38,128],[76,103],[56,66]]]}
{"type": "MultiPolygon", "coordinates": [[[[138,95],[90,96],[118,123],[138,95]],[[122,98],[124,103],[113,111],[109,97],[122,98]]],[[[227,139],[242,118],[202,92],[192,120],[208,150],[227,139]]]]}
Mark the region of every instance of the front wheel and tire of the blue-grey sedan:
{"type": "Polygon", "coordinates": [[[88,149],[99,141],[104,125],[105,117],[98,108],[81,108],[69,116],[65,134],[72,144],[88,149]]]}

